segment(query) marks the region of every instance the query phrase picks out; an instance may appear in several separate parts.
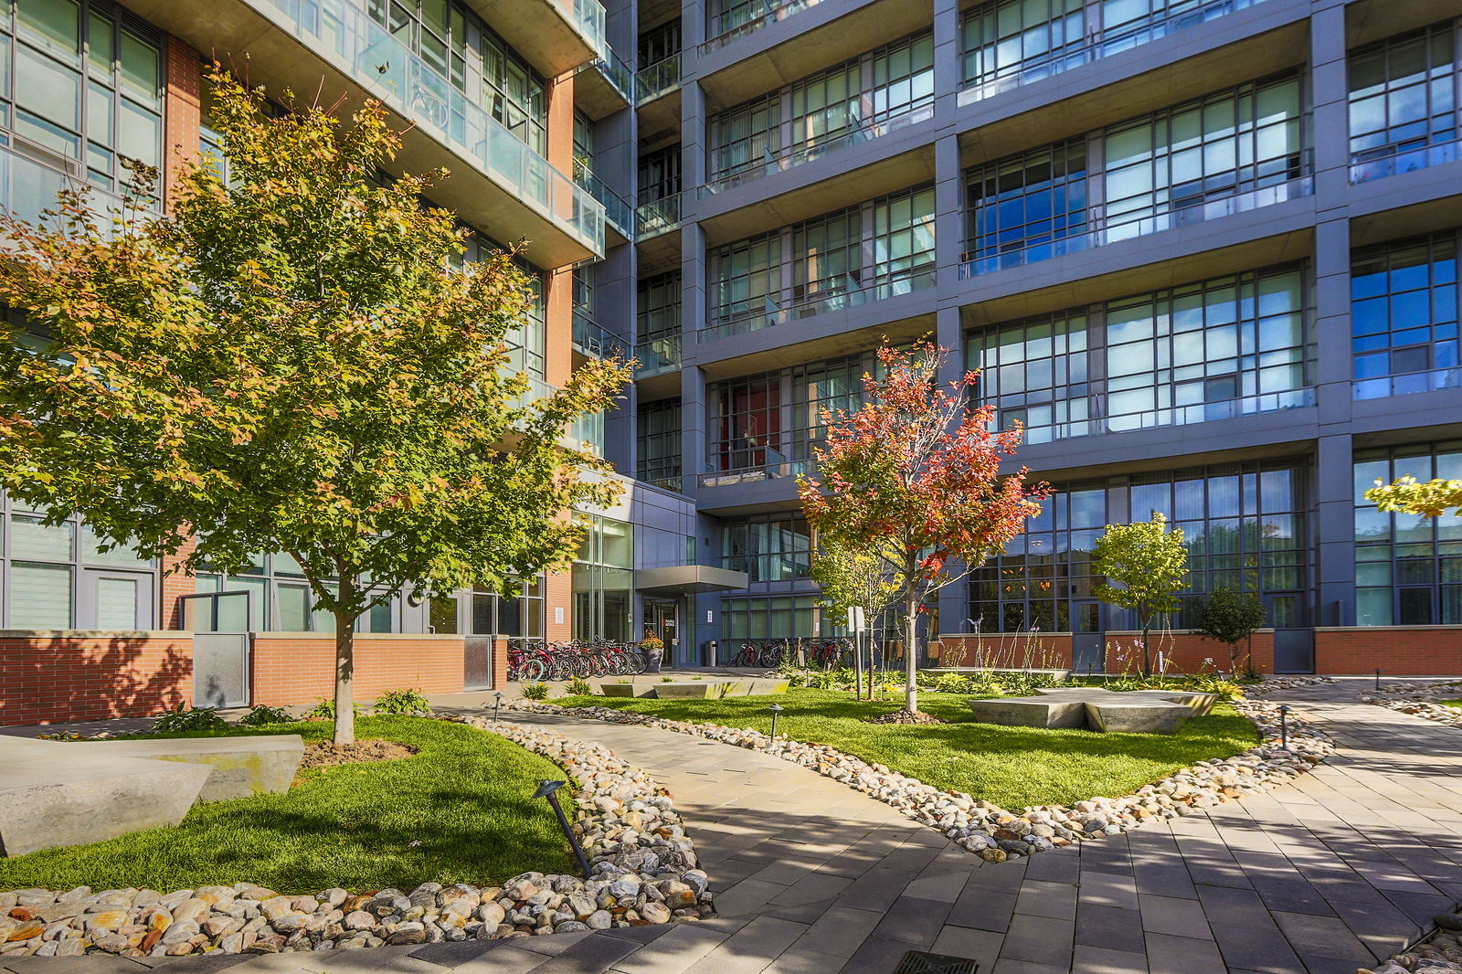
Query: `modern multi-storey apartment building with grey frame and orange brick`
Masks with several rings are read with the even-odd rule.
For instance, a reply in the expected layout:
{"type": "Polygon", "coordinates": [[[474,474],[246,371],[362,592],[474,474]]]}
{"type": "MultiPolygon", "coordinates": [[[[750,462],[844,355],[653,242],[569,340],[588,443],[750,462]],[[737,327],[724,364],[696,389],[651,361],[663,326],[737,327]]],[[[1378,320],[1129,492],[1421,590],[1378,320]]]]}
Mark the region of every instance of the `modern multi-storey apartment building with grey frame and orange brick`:
{"type": "MultiPolygon", "coordinates": [[[[947,377],[982,370],[1060,488],[931,629],[1070,633],[1099,667],[1133,620],[1094,600],[1086,553],[1161,510],[1192,553],[1177,626],[1240,586],[1276,670],[1456,671],[1462,528],[1360,491],[1462,477],[1459,44],[1456,0],[10,0],[0,203],[211,151],[218,57],[383,99],[411,126],[399,168],[452,170],[433,202],[480,246],[529,241],[535,382],[637,358],[576,430],[626,491],[575,513],[573,570],[382,607],[367,657],[417,665],[382,683],[488,686],[504,636],[651,626],[696,665],[842,632],[795,474],[873,350],[921,335],[947,377]]],[[[288,559],[181,578],[0,503],[0,642],[26,673],[313,687],[270,676],[313,674],[327,636],[288,559]]]]}

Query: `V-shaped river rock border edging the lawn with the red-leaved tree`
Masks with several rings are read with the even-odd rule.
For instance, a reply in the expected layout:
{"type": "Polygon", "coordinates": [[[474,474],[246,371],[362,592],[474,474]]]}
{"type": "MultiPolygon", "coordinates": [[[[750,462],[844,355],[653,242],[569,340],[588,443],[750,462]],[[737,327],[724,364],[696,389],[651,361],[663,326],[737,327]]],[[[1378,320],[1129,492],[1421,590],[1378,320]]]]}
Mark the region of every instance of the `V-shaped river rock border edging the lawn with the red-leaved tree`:
{"type": "Polygon", "coordinates": [[[1121,799],[1092,797],[1072,804],[1028,806],[1009,812],[961,791],[942,791],[827,744],[807,744],[785,734],[778,734],[773,740],[754,730],[671,721],[607,706],[563,708],[520,699],[506,706],[535,714],[572,712],[613,724],[637,724],[763,750],[877,799],[937,829],[985,861],[997,863],[1102,835],[1118,835],[1145,822],[1174,819],[1246,794],[1260,794],[1288,784],[1335,752],[1325,731],[1294,717],[1288,718],[1288,749],[1279,747],[1279,705],[1235,701],[1234,709],[1249,718],[1260,734],[1262,743],[1256,747],[1231,758],[1194,762],[1190,768],[1121,799]]]}

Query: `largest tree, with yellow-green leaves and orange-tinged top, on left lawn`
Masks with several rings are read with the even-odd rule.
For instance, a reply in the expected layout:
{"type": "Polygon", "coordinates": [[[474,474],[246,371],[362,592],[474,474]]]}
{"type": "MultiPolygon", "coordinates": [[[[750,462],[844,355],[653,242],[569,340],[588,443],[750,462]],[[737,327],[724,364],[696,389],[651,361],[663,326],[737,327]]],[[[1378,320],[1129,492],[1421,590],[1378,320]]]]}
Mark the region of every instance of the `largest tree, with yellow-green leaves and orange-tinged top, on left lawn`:
{"type": "Polygon", "coordinates": [[[117,227],[77,193],[39,227],[0,216],[0,304],[31,335],[0,341],[0,486],[149,557],[196,538],[186,570],[294,557],[335,619],[348,743],[355,620],[404,586],[566,565],[580,529],[556,515],[616,491],[564,430],[627,373],[591,363],[520,405],[504,336],[526,279],[462,260],[452,214],[421,203],[443,173],[382,183],[401,139],[380,104],[275,118],[212,82],[228,181],[193,165],[170,216],[117,227]]]}

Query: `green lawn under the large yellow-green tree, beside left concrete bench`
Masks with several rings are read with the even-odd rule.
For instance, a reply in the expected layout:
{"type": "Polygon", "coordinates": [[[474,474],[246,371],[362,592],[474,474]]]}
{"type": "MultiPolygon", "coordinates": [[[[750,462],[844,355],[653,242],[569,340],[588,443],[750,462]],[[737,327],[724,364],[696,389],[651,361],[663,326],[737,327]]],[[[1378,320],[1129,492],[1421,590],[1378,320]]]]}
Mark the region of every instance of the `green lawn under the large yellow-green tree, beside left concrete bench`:
{"type": "MultiPolygon", "coordinates": [[[[327,722],[227,733],[323,740],[327,722]]],[[[357,718],[357,737],[418,749],[411,758],[300,774],[287,794],[193,806],[178,828],[0,858],[0,889],[162,892],[253,882],[303,894],[501,882],[570,872],[553,810],[534,800],[563,769],[496,734],[415,717],[357,718]]],[[[168,734],[199,737],[202,734],[168,734]]],[[[572,812],[570,812],[572,815],[572,812]]]]}

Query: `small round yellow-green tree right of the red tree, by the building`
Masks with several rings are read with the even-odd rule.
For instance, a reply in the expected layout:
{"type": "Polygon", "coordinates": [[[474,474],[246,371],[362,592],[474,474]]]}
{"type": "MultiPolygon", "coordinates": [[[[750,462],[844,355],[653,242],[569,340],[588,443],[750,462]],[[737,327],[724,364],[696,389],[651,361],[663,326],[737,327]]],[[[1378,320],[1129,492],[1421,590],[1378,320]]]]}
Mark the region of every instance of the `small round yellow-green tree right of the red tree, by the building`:
{"type": "Polygon", "coordinates": [[[1148,636],[1158,613],[1178,607],[1177,594],[1187,581],[1187,548],[1183,528],[1168,531],[1168,519],[1110,524],[1092,547],[1092,566],[1117,585],[1101,582],[1096,598],[1130,608],[1142,627],[1142,676],[1152,676],[1152,649],[1148,636]]]}

